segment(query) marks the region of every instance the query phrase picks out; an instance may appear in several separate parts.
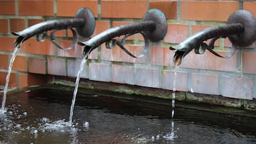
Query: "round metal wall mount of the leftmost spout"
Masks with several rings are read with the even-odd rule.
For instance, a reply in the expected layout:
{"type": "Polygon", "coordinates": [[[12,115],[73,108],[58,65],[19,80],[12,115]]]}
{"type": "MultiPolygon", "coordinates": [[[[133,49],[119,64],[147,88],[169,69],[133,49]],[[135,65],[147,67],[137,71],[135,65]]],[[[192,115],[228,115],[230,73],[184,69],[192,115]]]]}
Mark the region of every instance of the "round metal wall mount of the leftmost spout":
{"type": "Polygon", "coordinates": [[[85,18],[85,25],[83,27],[75,28],[78,34],[84,38],[92,35],[95,30],[95,17],[93,16],[92,11],[88,8],[80,8],[75,13],[75,18],[85,18]]]}

